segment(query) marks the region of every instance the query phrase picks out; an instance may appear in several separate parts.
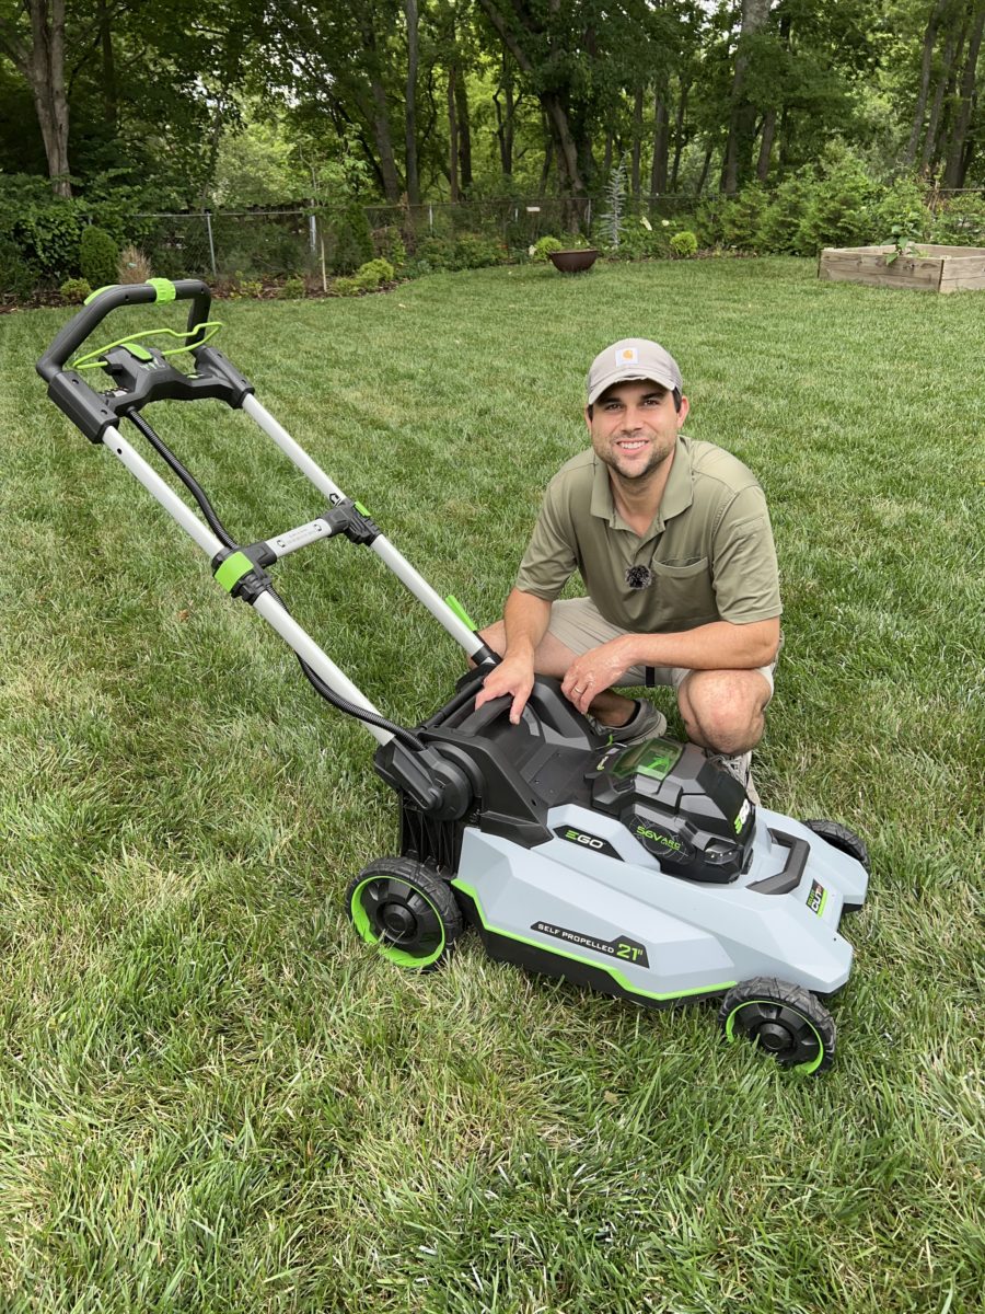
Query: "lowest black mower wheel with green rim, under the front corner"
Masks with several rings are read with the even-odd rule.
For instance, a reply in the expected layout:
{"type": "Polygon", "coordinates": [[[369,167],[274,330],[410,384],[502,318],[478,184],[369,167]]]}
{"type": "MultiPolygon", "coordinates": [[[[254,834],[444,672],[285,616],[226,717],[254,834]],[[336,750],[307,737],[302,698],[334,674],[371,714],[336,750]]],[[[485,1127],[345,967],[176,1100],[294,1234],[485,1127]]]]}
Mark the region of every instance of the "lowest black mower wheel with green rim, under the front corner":
{"type": "Polygon", "coordinates": [[[834,1021],[827,1009],[800,986],[775,976],[756,976],[725,996],[718,1021],[725,1037],[745,1037],[795,1072],[826,1071],[834,1062],[834,1021]]]}

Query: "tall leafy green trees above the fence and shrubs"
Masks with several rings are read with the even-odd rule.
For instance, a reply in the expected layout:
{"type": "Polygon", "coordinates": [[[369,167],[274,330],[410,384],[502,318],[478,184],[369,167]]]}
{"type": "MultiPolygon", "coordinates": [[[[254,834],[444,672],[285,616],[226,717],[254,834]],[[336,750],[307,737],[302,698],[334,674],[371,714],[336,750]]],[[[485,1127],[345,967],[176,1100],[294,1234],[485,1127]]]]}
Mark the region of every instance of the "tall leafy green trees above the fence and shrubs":
{"type": "Polygon", "coordinates": [[[158,205],[985,181],[985,0],[0,0],[0,172],[158,205]],[[280,192],[280,196],[273,193],[280,192]],[[292,194],[293,193],[293,194],[292,194]]]}

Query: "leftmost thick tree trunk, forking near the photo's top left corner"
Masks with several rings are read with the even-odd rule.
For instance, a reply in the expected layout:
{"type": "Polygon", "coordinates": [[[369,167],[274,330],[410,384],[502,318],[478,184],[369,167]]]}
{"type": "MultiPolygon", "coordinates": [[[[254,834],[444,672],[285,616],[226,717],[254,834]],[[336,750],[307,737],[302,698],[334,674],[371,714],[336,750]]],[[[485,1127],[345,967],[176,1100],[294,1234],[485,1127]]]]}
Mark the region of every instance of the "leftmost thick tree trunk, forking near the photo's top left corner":
{"type": "Polygon", "coordinates": [[[70,197],[68,97],[64,83],[64,0],[26,0],[32,43],[25,46],[16,29],[0,18],[0,50],[30,87],[47,172],[55,196],[70,197]]]}

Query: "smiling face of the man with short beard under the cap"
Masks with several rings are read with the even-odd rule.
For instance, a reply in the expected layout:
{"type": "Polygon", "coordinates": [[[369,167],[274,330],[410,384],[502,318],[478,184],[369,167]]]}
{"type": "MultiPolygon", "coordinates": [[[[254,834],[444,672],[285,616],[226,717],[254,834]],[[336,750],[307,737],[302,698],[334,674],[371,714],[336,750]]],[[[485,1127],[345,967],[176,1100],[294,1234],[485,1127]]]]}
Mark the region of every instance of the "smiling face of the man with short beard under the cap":
{"type": "Polygon", "coordinates": [[[645,480],[667,460],[687,418],[687,397],[674,409],[674,394],[638,380],[613,384],[584,418],[600,461],[624,480],[645,480]]]}

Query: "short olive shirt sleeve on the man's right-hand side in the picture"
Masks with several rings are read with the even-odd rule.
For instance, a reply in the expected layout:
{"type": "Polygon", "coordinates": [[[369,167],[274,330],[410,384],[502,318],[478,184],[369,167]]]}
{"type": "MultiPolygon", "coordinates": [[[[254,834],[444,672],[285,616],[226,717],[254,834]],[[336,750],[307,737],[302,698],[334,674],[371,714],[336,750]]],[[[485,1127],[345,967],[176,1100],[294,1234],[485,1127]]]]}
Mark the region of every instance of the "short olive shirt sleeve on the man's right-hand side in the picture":
{"type": "Polygon", "coordinates": [[[745,625],[779,616],[776,548],[762,489],[743,489],[733,498],[712,544],[712,587],[721,619],[745,625]]]}

